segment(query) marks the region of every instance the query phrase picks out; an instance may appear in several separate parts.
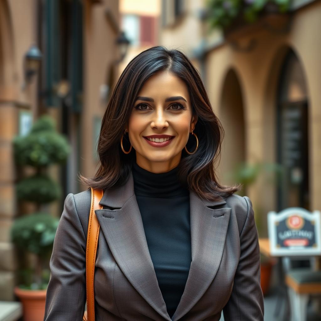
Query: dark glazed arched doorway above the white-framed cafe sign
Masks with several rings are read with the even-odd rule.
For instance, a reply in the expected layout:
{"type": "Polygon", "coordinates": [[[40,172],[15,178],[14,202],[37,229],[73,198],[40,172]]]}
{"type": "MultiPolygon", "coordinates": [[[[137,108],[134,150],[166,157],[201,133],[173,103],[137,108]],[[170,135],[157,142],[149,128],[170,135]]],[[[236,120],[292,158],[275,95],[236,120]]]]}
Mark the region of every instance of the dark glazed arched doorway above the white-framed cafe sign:
{"type": "Polygon", "coordinates": [[[277,88],[278,211],[292,206],[309,210],[308,94],[302,65],[293,50],[284,58],[277,88]]]}

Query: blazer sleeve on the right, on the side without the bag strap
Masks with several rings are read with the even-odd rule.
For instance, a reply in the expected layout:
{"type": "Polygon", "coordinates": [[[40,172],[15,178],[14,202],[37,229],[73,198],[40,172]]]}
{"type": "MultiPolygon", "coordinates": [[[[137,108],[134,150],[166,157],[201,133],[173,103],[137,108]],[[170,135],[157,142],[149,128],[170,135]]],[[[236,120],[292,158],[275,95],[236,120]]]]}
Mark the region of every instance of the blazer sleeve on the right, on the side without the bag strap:
{"type": "Polygon", "coordinates": [[[223,308],[223,315],[225,321],[263,321],[264,302],[258,234],[252,202],[247,196],[243,196],[243,199],[247,204],[247,217],[240,233],[239,264],[230,299],[223,308]]]}

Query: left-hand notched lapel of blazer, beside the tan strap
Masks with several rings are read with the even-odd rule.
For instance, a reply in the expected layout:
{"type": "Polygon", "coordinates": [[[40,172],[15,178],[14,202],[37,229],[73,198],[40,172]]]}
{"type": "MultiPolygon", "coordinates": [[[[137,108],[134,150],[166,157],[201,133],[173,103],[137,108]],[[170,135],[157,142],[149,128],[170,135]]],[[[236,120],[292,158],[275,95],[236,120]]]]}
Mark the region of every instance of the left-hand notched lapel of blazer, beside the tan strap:
{"type": "Polygon", "coordinates": [[[170,321],[148,250],[132,173],[122,187],[105,190],[99,204],[108,208],[95,213],[120,269],[148,304],[170,321]]]}

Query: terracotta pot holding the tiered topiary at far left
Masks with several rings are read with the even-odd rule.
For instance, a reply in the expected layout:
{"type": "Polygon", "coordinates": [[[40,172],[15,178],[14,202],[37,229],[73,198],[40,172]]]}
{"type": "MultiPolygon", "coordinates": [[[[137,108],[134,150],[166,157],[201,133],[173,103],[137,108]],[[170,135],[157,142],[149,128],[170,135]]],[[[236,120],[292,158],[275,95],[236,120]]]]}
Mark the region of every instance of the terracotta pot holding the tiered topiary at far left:
{"type": "Polygon", "coordinates": [[[22,303],[23,321],[43,321],[45,317],[46,293],[47,290],[14,288],[14,294],[22,303]]]}

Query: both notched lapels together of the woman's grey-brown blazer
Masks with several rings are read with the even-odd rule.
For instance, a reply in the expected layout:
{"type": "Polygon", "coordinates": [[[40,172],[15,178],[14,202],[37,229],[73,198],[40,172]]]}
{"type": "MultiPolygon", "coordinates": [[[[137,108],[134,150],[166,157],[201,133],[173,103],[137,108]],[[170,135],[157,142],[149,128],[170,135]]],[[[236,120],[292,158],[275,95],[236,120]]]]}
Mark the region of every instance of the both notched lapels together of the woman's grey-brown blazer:
{"type": "Polygon", "coordinates": [[[100,229],[129,282],[165,320],[176,321],[183,317],[203,296],[219,268],[231,209],[214,207],[226,204],[224,198],[210,202],[190,190],[192,262],[172,319],[167,313],[148,250],[132,173],[123,186],[105,190],[99,204],[104,206],[95,211],[100,229]]]}

